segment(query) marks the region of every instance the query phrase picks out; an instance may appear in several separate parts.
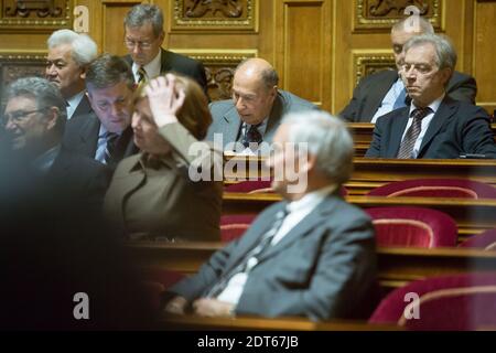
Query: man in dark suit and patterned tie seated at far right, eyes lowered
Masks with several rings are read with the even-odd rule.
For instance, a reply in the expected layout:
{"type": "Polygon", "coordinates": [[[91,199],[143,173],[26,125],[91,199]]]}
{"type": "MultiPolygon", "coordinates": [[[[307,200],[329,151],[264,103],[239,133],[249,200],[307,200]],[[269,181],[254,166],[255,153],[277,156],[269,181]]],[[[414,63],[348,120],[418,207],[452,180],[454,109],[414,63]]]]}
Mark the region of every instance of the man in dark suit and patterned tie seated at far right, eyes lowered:
{"type": "Polygon", "coordinates": [[[446,94],[456,65],[451,43],[442,36],[424,34],[409,40],[403,51],[401,75],[412,98],[411,106],[377,120],[366,157],[496,158],[487,114],[446,94]]]}

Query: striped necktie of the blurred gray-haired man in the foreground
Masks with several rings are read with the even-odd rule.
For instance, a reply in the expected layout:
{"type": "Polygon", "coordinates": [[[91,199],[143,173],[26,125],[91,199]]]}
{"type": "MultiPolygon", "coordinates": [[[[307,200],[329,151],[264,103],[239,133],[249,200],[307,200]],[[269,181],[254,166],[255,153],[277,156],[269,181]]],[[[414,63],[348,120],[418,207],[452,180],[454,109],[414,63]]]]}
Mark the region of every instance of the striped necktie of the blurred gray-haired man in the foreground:
{"type": "Polygon", "coordinates": [[[220,276],[218,281],[207,291],[205,297],[217,297],[227,287],[233,276],[240,272],[249,272],[251,268],[254,268],[258,264],[258,259],[261,257],[261,255],[270,248],[270,243],[272,242],[274,235],[279,232],[279,228],[281,227],[282,222],[284,222],[287,215],[288,211],[285,207],[280,210],[276,214],[272,226],[267,233],[261,236],[260,242],[245,254],[238,265],[234,266],[230,270],[220,276]]]}

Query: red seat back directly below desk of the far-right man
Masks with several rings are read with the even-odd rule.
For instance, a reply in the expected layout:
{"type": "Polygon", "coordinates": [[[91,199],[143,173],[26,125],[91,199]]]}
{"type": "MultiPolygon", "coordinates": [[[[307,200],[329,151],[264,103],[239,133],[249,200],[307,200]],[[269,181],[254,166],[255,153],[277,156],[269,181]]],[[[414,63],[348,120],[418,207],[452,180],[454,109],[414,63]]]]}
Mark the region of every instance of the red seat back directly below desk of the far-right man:
{"type": "Polygon", "coordinates": [[[376,188],[368,195],[496,199],[496,188],[467,179],[412,179],[376,188]]]}

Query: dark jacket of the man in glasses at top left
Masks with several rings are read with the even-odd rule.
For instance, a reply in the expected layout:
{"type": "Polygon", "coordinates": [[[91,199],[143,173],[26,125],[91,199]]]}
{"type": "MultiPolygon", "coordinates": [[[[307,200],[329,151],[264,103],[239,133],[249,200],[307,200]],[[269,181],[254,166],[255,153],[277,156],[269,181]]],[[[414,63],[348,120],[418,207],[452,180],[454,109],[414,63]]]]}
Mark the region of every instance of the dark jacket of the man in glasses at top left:
{"type": "MultiPolygon", "coordinates": [[[[165,74],[168,72],[175,72],[183,74],[196,81],[198,85],[203,88],[205,94],[207,94],[207,81],[205,75],[205,68],[201,62],[197,62],[185,55],[173,53],[161,49],[161,64],[160,73],[165,74]]],[[[132,58],[130,55],[123,57],[129,65],[132,65],[132,58]]]]}

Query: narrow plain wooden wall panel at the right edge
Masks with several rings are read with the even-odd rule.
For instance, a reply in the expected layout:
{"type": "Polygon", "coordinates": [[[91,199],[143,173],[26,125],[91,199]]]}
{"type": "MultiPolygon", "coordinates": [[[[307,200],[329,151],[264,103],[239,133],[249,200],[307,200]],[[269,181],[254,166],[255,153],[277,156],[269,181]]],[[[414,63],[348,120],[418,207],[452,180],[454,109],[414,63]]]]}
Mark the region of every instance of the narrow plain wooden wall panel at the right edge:
{"type": "Polygon", "coordinates": [[[477,78],[477,104],[489,114],[496,109],[496,2],[475,4],[474,74],[477,78]]]}

